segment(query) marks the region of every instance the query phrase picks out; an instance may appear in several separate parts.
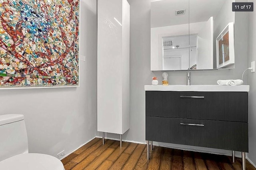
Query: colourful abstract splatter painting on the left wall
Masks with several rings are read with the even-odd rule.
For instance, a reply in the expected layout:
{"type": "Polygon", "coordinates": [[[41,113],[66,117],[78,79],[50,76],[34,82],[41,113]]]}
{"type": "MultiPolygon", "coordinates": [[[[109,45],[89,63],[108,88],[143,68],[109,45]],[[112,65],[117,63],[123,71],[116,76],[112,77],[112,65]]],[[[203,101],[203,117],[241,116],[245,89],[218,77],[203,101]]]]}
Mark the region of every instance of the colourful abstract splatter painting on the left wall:
{"type": "Polygon", "coordinates": [[[79,86],[79,0],[0,1],[0,88],[79,86]]]}

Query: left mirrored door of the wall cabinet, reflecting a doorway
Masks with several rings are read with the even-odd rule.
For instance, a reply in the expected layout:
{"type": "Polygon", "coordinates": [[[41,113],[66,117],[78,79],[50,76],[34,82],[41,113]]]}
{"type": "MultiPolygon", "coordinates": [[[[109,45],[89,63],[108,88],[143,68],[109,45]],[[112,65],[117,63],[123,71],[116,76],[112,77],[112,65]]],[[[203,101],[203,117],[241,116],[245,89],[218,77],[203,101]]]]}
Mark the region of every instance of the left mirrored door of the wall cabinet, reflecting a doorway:
{"type": "Polygon", "coordinates": [[[189,0],[152,0],[151,70],[189,67],[189,0]]]}

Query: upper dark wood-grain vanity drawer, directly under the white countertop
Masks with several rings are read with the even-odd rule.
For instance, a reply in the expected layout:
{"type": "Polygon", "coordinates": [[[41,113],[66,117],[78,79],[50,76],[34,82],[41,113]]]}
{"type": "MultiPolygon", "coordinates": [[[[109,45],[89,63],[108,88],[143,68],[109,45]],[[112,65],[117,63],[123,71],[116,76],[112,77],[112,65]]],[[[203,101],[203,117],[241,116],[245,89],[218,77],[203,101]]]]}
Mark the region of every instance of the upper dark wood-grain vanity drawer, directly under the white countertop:
{"type": "Polygon", "coordinates": [[[146,116],[248,122],[248,93],[146,91],[146,116]]]}

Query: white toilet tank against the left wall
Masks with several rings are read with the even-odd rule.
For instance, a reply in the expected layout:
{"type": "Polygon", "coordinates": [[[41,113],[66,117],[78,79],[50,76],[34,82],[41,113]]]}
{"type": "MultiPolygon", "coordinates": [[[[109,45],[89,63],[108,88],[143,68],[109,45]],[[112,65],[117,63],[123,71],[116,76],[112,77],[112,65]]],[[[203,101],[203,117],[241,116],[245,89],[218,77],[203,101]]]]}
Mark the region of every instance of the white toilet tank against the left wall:
{"type": "Polygon", "coordinates": [[[24,153],[28,153],[24,115],[0,115],[0,161],[24,153]]]}

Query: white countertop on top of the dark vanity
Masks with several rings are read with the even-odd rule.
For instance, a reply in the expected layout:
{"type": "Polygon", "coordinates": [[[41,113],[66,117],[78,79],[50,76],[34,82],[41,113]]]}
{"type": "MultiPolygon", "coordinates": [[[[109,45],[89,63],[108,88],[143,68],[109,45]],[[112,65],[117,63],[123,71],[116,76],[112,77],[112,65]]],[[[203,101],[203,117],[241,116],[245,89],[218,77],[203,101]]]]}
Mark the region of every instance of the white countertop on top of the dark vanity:
{"type": "Polygon", "coordinates": [[[249,92],[249,85],[221,86],[221,85],[145,85],[145,91],[187,91],[187,92],[249,92]]]}

